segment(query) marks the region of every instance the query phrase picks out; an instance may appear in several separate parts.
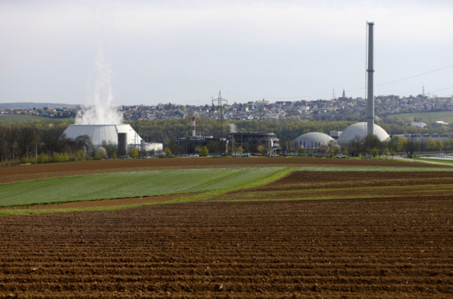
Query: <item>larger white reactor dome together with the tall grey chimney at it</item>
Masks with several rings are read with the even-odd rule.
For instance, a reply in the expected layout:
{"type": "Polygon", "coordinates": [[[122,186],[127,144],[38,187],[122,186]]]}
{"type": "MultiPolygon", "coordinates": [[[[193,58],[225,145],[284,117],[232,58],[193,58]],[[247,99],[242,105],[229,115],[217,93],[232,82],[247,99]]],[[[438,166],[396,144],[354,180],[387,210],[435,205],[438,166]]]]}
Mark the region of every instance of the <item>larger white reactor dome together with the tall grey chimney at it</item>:
{"type": "Polygon", "coordinates": [[[341,132],[338,137],[339,143],[349,143],[356,136],[365,138],[369,134],[378,136],[381,141],[390,138],[389,134],[374,123],[374,95],[373,95],[373,26],[374,23],[368,25],[368,65],[367,65],[367,96],[366,96],[366,122],[358,122],[347,127],[341,132]]]}

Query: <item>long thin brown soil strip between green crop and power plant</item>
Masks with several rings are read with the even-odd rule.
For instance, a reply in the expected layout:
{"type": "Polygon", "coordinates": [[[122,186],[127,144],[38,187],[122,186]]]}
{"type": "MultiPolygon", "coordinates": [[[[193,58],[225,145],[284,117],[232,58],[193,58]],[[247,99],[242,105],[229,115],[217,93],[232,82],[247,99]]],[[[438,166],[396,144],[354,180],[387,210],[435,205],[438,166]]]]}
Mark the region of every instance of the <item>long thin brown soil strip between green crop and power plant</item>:
{"type": "Polygon", "coordinates": [[[0,184],[72,175],[146,171],[160,169],[263,167],[263,166],[395,166],[395,167],[448,167],[402,161],[317,159],[317,158],[173,158],[109,160],[72,163],[50,163],[0,168],[0,184]]]}

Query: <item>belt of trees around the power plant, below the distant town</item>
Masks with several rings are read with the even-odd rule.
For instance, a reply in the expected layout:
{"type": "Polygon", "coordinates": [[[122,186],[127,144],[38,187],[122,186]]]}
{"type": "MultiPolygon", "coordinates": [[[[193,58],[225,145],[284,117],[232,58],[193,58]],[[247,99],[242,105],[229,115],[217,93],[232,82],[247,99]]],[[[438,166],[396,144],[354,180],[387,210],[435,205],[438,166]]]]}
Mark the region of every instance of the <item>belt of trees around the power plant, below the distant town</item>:
{"type": "MultiPolygon", "coordinates": [[[[177,140],[192,136],[192,119],[138,120],[128,122],[146,142],[162,142],[174,154],[178,154],[177,140]]],[[[291,144],[297,136],[308,132],[342,131],[350,121],[295,121],[295,120],[228,120],[219,122],[215,119],[196,118],[196,134],[216,136],[218,131],[275,133],[280,139],[282,150],[291,144]],[[220,130],[219,130],[220,126],[220,130]]],[[[65,138],[62,134],[69,123],[30,122],[18,124],[0,123],[0,163],[14,165],[20,163],[45,163],[61,161],[80,161],[82,159],[102,158],[116,155],[115,144],[103,144],[105,153],[98,153],[88,136],[79,136],[77,140],[65,138]],[[97,155],[97,156],[96,156],[97,155]]],[[[380,123],[389,134],[426,134],[448,133],[448,126],[416,128],[396,123],[380,123]]],[[[387,151],[415,152],[452,151],[453,139],[426,140],[405,139],[399,136],[389,141],[380,142],[367,137],[352,140],[345,147],[350,154],[369,153],[376,148],[379,153],[387,151]],[[368,139],[367,139],[368,138],[368,139]],[[373,143],[374,142],[374,143],[373,143]]],[[[327,151],[327,150],[326,150],[327,151]]],[[[339,149],[340,152],[344,148],[339,149]]],[[[204,153],[203,153],[204,154],[204,153]]]]}

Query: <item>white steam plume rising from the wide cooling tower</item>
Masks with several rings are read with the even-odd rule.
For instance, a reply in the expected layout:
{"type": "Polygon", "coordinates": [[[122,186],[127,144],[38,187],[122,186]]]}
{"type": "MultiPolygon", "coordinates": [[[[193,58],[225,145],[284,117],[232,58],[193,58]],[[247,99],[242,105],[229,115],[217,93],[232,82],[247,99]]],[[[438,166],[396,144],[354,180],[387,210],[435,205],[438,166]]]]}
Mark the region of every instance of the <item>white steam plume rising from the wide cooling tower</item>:
{"type": "Polygon", "coordinates": [[[123,116],[113,105],[112,69],[105,61],[101,46],[96,58],[96,74],[93,97],[78,112],[75,124],[122,124],[123,116]]]}

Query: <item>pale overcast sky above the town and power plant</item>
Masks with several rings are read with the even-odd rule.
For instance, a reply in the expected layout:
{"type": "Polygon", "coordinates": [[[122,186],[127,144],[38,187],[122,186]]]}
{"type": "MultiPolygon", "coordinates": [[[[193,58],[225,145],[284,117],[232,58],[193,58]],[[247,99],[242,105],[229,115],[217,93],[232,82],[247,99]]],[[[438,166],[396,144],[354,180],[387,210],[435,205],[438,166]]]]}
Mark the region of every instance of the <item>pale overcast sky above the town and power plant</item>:
{"type": "Polygon", "coordinates": [[[87,104],[97,61],[118,105],[365,97],[366,21],[375,95],[451,96],[452,16],[451,0],[0,0],[0,102],[87,104]]]}

